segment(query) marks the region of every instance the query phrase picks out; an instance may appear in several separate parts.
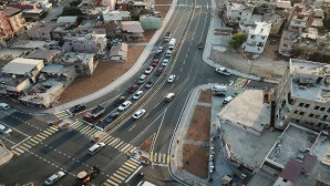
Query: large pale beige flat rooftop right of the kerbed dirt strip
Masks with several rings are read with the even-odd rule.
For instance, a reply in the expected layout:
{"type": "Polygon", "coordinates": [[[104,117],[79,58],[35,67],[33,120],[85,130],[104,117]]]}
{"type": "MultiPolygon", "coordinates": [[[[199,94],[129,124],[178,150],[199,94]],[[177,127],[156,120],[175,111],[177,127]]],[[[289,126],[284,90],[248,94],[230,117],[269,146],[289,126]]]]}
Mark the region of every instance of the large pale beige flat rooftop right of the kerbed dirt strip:
{"type": "Polygon", "coordinates": [[[262,90],[246,90],[219,113],[223,118],[261,133],[270,123],[270,106],[264,103],[262,90]]]}

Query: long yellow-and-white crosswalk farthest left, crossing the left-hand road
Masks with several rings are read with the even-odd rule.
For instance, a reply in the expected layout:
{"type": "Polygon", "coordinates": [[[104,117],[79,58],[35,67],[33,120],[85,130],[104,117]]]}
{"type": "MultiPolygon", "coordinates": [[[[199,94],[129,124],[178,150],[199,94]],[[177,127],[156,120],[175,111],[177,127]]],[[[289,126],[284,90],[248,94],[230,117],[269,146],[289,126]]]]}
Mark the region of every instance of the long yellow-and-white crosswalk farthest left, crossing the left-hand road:
{"type": "Polygon", "coordinates": [[[41,133],[37,134],[35,136],[32,136],[29,140],[24,141],[23,143],[13,146],[11,148],[11,152],[14,155],[20,156],[23,153],[28,152],[33,146],[38,145],[45,138],[48,138],[51,135],[53,135],[54,133],[56,133],[58,131],[59,131],[58,126],[50,126],[50,127],[45,128],[44,131],[42,131],[41,133]]]}

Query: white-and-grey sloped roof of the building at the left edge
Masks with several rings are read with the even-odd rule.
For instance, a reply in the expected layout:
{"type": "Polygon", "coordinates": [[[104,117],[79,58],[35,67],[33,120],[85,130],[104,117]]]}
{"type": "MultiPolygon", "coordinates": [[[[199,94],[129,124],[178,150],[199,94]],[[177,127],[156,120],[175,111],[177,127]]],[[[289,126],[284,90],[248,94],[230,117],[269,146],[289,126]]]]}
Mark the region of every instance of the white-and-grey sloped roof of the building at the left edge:
{"type": "Polygon", "coordinates": [[[31,72],[40,63],[43,63],[43,61],[17,58],[4,65],[2,72],[23,75],[27,72],[31,72]]]}

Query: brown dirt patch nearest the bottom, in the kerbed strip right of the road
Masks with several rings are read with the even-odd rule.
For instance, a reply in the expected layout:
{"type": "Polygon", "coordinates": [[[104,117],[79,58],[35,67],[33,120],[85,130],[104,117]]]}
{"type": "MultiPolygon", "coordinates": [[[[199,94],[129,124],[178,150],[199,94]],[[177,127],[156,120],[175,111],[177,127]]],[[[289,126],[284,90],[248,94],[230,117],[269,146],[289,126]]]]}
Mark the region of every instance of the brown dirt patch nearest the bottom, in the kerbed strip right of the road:
{"type": "Polygon", "coordinates": [[[196,176],[207,176],[208,147],[184,145],[183,159],[185,170],[196,176]]]}

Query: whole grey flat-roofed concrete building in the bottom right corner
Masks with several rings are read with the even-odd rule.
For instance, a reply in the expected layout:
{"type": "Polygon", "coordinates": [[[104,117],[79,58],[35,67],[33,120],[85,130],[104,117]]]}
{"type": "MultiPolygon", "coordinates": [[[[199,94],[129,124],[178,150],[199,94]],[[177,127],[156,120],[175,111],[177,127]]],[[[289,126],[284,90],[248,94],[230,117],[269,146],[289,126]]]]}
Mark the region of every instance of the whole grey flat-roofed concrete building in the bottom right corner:
{"type": "Polygon", "coordinates": [[[278,176],[274,186],[310,186],[329,184],[330,168],[324,157],[330,140],[290,123],[266,156],[261,170],[278,176]]]}

